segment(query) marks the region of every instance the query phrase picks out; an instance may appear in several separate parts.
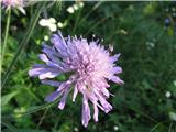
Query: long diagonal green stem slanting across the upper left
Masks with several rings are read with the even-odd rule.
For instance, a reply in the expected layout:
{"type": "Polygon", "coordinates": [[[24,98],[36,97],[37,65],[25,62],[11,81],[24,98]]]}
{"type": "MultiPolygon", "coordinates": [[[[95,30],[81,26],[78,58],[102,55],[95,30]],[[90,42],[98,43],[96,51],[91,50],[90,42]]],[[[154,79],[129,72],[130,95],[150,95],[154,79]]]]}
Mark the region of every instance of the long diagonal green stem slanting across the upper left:
{"type": "Polygon", "coordinates": [[[4,85],[6,85],[6,82],[7,82],[7,79],[8,79],[9,75],[10,75],[13,66],[15,65],[15,63],[16,63],[20,54],[22,53],[23,48],[26,46],[26,44],[28,44],[28,42],[29,42],[29,40],[30,40],[30,37],[31,37],[31,35],[32,35],[32,32],[33,32],[33,30],[34,30],[34,28],[35,28],[35,25],[36,25],[36,22],[37,22],[37,20],[38,20],[38,18],[40,18],[40,14],[41,14],[42,10],[43,10],[44,7],[45,7],[45,3],[46,3],[46,1],[41,2],[40,6],[37,7],[36,12],[35,12],[35,14],[33,15],[32,21],[31,21],[31,23],[30,23],[30,25],[29,25],[29,29],[28,29],[28,31],[26,31],[26,33],[25,33],[22,42],[20,43],[20,45],[19,45],[19,47],[18,47],[18,51],[16,51],[16,53],[15,53],[15,55],[14,55],[14,57],[13,57],[11,64],[10,64],[10,66],[8,67],[7,73],[6,73],[4,76],[3,76],[3,80],[2,80],[2,86],[1,86],[1,88],[4,87],[4,85]]]}

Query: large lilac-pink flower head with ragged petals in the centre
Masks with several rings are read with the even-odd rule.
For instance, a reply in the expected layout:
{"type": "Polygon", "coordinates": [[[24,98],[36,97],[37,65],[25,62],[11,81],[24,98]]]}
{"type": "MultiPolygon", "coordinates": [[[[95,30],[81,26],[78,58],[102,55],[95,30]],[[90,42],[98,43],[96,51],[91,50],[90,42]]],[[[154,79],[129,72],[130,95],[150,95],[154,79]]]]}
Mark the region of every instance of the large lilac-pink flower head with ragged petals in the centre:
{"type": "Polygon", "coordinates": [[[68,92],[74,86],[73,101],[77,94],[82,95],[82,125],[87,127],[91,118],[89,102],[94,106],[94,119],[97,122],[98,108],[106,113],[112,110],[112,106],[107,101],[111,95],[107,81],[123,84],[123,80],[118,77],[122,68],[114,64],[120,54],[111,56],[99,41],[88,42],[76,36],[63,37],[61,32],[53,34],[51,42],[52,46],[43,44],[43,54],[40,55],[45,64],[34,65],[29,75],[37,76],[43,84],[57,87],[56,91],[48,95],[45,100],[52,102],[61,97],[59,109],[64,109],[68,92]],[[52,79],[64,73],[73,74],[66,81],[52,79]]]}

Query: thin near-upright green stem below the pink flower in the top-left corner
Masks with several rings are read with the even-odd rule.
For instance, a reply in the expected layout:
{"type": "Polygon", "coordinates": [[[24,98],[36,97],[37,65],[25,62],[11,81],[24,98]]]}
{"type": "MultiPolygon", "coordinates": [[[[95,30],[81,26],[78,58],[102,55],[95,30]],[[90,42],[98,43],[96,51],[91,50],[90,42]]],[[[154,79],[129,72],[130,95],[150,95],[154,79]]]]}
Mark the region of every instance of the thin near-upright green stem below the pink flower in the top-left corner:
{"type": "Polygon", "coordinates": [[[7,41],[8,41],[8,35],[9,35],[9,26],[10,26],[10,18],[11,18],[11,9],[8,10],[8,18],[7,18],[7,26],[6,26],[6,33],[4,33],[4,41],[3,41],[3,45],[2,45],[1,63],[3,62],[3,56],[4,56],[6,47],[7,47],[7,41]]]}

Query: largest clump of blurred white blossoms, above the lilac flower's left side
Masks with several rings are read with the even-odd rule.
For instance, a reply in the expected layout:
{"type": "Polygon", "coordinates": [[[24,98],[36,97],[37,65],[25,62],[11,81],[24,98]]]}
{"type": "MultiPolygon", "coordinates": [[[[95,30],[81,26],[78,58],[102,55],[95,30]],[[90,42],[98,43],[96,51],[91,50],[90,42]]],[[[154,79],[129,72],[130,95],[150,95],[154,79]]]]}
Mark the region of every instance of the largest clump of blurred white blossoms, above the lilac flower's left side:
{"type": "Polygon", "coordinates": [[[57,31],[56,20],[54,18],[41,19],[38,23],[41,26],[47,26],[52,32],[57,31]]]}

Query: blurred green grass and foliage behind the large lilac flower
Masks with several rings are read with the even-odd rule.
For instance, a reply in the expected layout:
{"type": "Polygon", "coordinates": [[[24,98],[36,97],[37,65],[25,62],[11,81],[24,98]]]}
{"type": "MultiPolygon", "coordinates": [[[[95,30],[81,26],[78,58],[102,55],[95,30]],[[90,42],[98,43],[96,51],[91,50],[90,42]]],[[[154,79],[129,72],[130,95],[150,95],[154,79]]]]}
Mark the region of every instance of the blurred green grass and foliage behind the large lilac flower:
{"type": "MultiPolygon", "coordinates": [[[[2,81],[42,2],[12,9],[2,63],[2,81]]],[[[2,44],[8,12],[1,10],[2,44]]],[[[3,47],[3,45],[2,45],[3,47]]],[[[176,2],[46,2],[26,45],[16,54],[1,90],[2,132],[176,132],[176,2]],[[54,19],[50,19],[54,18],[54,19]],[[42,26],[41,19],[50,25],[42,26]],[[53,29],[53,30],[52,30],[53,29]],[[113,110],[100,111],[99,122],[81,125],[81,100],[67,98],[64,110],[44,98],[54,88],[30,78],[28,70],[41,63],[42,42],[55,30],[65,36],[95,34],[121,53],[118,65],[123,86],[111,84],[113,110]]]]}

